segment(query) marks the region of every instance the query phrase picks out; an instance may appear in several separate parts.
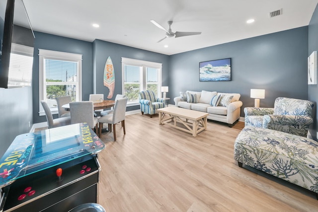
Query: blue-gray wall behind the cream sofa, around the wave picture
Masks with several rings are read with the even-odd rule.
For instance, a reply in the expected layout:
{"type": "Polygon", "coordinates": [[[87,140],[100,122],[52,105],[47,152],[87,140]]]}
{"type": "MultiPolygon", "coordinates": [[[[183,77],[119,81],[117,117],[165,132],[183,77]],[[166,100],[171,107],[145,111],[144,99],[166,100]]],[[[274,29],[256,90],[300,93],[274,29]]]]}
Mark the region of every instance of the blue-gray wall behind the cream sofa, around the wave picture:
{"type": "MultiPolygon", "coordinates": [[[[307,99],[308,26],[170,56],[169,96],[180,91],[240,93],[243,108],[254,105],[250,89],[265,89],[260,107],[277,97],[307,99]],[[199,81],[199,62],[231,58],[231,81],[199,81]]],[[[171,101],[173,102],[173,101],[171,101]]]]}

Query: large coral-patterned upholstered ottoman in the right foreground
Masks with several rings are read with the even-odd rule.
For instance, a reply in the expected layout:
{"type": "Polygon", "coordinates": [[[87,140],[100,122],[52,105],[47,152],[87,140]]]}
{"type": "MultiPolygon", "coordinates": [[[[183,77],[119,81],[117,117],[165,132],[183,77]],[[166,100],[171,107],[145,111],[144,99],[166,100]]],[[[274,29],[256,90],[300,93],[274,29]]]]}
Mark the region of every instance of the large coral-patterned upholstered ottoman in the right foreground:
{"type": "Polygon", "coordinates": [[[235,141],[239,166],[255,169],[318,193],[318,142],[257,127],[244,127],[235,141]]]}

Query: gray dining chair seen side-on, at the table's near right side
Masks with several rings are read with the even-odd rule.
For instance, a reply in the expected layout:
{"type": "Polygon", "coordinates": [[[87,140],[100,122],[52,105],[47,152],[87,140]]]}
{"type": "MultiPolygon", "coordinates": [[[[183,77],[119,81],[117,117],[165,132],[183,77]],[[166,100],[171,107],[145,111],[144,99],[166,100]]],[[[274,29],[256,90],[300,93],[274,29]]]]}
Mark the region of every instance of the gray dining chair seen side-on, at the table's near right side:
{"type": "Polygon", "coordinates": [[[106,116],[102,116],[98,119],[99,137],[101,137],[101,129],[102,129],[104,123],[108,124],[109,132],[112,131],[112,126],[113,126],[114,141],[116,141],[116,127],[115,126],[118,122],[121,122],[123,130],[124,130],[124,134],[126,134],[125,113],[126,113],[127,101],[128,101],[128,98],[117,99],[117,101],[115,102],[113,113],[108,114],[106,116]]]}

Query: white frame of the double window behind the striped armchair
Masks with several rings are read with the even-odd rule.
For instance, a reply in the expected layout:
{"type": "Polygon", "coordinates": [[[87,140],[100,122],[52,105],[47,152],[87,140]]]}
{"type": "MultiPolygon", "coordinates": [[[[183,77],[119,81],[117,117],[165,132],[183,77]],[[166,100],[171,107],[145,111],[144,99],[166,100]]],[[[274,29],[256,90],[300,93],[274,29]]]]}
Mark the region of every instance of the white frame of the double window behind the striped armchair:
{"type": "MultiPolygon", "coordinates": [[[[122,64],[122,93],[125,94],[125,66],[138,66],[142,67],[140,73],[140,89],[145,90],[147,87],[147,68],[159,69],[158,71],[158,91],[157,96],[161,97],[161,86],[162,86],[162,64],[150,61],[142,61],[130,58],[121,58],[122,64]]],[[[128,101],[127,106],[139,105],[139,101],[128,101]]]]}

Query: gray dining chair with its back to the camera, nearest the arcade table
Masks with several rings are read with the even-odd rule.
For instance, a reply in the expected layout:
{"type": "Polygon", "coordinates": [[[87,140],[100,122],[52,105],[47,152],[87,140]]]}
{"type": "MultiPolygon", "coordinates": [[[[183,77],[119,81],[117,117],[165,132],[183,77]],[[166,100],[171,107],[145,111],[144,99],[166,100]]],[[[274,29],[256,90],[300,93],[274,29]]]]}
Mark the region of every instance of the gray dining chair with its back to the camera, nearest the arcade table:
{"type": "Polygon", "coordinates": [[[92,101],[70,102],[71,124],[87,123],[91,129],[98,132],[98,118],[94,117],[92,101]]]}

